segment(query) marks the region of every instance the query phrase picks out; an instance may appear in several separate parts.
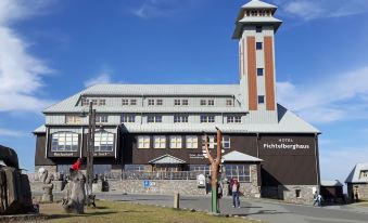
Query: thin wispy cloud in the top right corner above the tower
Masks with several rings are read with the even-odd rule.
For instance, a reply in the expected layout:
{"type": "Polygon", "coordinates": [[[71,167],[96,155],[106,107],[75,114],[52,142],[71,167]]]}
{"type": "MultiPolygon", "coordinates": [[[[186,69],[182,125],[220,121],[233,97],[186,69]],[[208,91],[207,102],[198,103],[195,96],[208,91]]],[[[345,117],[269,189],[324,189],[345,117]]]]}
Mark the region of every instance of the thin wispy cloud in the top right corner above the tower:
{"type": "Polygon", "coordinates": [[[368,11],[366,0],[274,0],[280,12],[305,21],[341,17],[368,11]]]}

